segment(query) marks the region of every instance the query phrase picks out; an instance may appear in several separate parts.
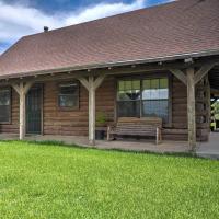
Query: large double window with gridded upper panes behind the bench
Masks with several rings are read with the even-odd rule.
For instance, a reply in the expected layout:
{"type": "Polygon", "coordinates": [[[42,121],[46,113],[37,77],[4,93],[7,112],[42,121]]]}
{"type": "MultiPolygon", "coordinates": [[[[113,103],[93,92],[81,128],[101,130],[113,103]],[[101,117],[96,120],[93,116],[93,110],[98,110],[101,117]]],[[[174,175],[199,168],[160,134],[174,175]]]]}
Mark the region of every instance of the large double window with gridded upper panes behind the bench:
{"type": "Polygon", "coordinates": [[[118,117],[162,117],[169,119],[169,79],[120,80],[117,91],[118,117]]]}

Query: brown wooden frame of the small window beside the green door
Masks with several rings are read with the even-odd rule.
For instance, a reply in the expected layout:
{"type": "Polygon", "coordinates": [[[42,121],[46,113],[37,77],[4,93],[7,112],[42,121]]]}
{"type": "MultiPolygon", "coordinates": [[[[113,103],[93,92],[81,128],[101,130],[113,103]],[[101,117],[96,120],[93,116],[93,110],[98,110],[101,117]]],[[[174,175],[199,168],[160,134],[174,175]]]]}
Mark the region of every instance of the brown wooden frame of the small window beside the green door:
{"type": "Polygon", "coordinates": [[[57,84],[57,108],[59,111],[78,111],[80,108],[80,83],[79,81],[77,80],[71,80],[71,81],[62,81],[62,82],[59,82],[57,84]],[[65,84],[69,84],[69,83],[76,83],[77,87],[78,87],[78,92],[77,92],[77,96],[78,96],[78,100],[77,100],[77,105],[76,106],[60,106],[59,105],[59,96],[61,95],[60,94],[60,85],[65,85],[65,84]]]}

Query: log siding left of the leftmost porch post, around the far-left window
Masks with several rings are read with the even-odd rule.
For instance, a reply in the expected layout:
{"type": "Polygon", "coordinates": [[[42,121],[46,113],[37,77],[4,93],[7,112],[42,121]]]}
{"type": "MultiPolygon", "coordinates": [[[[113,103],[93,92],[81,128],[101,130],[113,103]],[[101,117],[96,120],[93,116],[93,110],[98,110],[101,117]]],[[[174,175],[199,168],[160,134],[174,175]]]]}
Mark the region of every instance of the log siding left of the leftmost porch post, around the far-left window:
{"type": "Polygon", "coordinates": [[[19,134],[19,95],[12,89],[11,123],[0,124],[0,132],[19,134]]]}

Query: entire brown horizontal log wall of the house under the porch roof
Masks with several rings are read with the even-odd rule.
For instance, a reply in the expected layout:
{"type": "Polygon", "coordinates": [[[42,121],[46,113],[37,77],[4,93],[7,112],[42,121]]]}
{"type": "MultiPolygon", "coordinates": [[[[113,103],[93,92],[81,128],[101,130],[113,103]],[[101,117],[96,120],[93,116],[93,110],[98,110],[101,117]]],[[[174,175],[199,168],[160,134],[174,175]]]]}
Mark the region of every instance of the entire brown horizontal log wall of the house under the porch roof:
{"type": "MultiPolygon", "coordinates": [[[[163,129],[163,138],[170,140],[187,140],[187,91],[186,87],[175,77],[172,80],[172,124],[163,129]]],[[[60,81],[59,81],[60,82],[60,81]]],[[[58,82],[44,83],[43,94],[43,134],[44,135],[88,135],[88,91],[80,84],[80,107],[74,111],[61,111],[58,108],[58,82]]],[[[197,110],[197,139],[207,140],[209,132],[208,80],[201,80],[196,85],[197,110]],[[204,95],[204,92],[207,95],[204,95]],[[206,116],[206,118],[204,118],[206,116]]],[[[116,79],[108,77],[96,90],[96,114],[105,112],[107,124],[115,120],[116,114],[116,79]]],[[[1,132],[19,132],[19,96],[12,92],[12,123],[0,125],[1,132]]]]}

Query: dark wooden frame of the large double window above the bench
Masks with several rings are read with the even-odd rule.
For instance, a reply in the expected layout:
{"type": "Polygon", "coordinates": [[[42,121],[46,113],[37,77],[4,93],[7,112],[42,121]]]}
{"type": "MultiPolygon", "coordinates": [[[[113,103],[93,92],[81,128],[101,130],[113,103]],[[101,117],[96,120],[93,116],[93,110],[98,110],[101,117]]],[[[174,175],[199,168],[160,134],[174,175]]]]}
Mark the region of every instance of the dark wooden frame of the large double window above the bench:
{"type": "MultiPolygon", "coordinates": [[[[147,79],[161,79],[161,78],[166,78],[168,79],[168,83],[169,83],[169,99],[168,99],[168,122],[163,123],[163,127],[165,128],[171,128],[172,127],[172,74],[170,72],[162,72],[162,71],[158,71],[157,73],[154,72],[148,72],[147,74],[137,74],[137,76],[122,76],[116,78],[116,94],[115,94],[115,105],[116,105],[116,112],[115,112],[115,118],[116,120],[118,119],[118,104],[117,102],[119,102],[117,100],[117,92],[118,92],[118,82],[119,81],[129,81],[129,80],[140,80],[140,91],[142,91],[142,81],[147,80],[147,79]]],[[[140,92],[140,117],[142,116],[142,92],[140,92]]]]}

